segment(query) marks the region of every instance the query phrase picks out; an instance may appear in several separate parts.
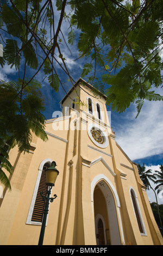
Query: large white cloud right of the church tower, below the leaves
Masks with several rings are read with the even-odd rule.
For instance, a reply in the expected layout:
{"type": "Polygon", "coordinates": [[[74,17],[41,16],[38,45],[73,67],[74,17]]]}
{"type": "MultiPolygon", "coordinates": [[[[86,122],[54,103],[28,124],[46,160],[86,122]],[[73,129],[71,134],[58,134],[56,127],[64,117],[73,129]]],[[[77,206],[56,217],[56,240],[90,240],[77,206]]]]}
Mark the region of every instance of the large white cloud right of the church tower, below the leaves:
{"type": "Polygon", "coordinates": [[[136,111],[124,115],[116,140],[131,160],[163,153],[163,103],[145,102],[137,117],[136,111]]]}

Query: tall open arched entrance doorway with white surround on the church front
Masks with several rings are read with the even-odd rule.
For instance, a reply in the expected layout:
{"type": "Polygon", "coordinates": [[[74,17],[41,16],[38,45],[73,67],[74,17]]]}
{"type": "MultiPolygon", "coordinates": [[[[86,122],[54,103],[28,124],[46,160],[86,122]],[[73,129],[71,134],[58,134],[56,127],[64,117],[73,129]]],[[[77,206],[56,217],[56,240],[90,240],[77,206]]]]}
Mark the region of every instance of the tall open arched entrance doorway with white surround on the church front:
{"type": "MultiPolygon", "coordinates": [[[[116,211],[116,202],[113,196],[114,192],[105,180],[99,180],[96,183],[95,188],[93,190],[92,199],[93,211],[95,216],[97,245],[99,245],[99,243],[101,242],[104,242],[104,245],[121,245],[120,230],[118,227],[118,218],[116,211]],[[99,222],[99,218],[101,218],[102,223],[101,221],[99,222]],[[101,224],[101,230],[103,230],[104,233],[104,240],[102,239],[102,237],[99,237],[100,232],[98,224],[101,224]]],[[[116,199],[118,200],[118,198],[116,199]]]]}

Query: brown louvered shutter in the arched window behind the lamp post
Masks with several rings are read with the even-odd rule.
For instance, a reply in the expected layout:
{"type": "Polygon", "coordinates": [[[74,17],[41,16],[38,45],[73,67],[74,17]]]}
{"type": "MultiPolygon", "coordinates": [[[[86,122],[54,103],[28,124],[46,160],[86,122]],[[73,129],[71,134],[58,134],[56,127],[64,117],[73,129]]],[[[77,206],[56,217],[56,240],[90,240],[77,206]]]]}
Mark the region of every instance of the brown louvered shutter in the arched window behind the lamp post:
{"type": "Polygon", "coordinates": [[[47,194],[46,172],[45,172],[45,170],[48,167],[49,167],[49,164],[46,163],[43,166],[43,170],[42,170],[42,173],[41,173],[39,188],[37,190],[37,196],[36,196],[35,205],[34,205],[33,214],[32,214],[32,219],[31,219],[32,221],[35,221],[35,222],[42,222],[43,210],[45,208],[45,201],[42,200],[40,192],[43,192],[43,195],[47,194]]]}

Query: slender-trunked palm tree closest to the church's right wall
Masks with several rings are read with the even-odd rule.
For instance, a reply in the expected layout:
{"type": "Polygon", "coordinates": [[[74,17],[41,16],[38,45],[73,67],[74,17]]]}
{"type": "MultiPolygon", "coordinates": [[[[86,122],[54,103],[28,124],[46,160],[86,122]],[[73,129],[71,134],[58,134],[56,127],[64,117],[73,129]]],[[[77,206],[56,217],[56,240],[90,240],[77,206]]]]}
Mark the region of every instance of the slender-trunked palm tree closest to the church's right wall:
{"type": "Polygon", "coordinates": [[[152,174],[151,169],[146,170],[145,163],[143,163],[142,166],[140,164],[137,164],[137,168],[138,168],[138,171],[139,171],[140,179],[142,180],[143,184],[145,184],[147,190],[149,190],[149,188],[151,188],[153,190],[154,194],[155,194],[156,204],[157,204],[157,208],[158,208],[158,215],[159,215],[159,219],[160,219],[160,225],[161,225],[161,229],[163,230],[161,217],[160,217],[160,212],[159,212],[158,199],[156,197],[155,190],[153,189],[153,187],[151,186],[151,184],[149,182],[149,180],[155,182],[156,176],[152,174]]]}

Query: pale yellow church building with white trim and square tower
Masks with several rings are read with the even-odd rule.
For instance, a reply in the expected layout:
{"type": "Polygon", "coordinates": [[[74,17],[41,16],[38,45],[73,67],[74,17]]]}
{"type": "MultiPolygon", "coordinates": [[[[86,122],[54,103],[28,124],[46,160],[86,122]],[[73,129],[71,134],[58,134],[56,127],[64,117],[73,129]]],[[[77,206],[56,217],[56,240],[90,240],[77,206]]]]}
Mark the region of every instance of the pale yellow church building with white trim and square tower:
{"type": "MultiPolygon", "coordinates": [[[[37,245],[45,169],[59,170],[43,245],[163,245],[137,166],[116,142],[105,106],[81,78],[46,121],[48,141],[10,150],[11,192],[0,199],[0,244],[37,245]],[[77,103],[78,99],[83,102],[77,103]]],[[[134,145],[133,145],[134,147],[134,145]]],[[[1,186],[2,187],[2,186],[1,186]]]]}

